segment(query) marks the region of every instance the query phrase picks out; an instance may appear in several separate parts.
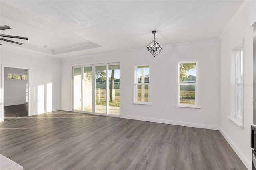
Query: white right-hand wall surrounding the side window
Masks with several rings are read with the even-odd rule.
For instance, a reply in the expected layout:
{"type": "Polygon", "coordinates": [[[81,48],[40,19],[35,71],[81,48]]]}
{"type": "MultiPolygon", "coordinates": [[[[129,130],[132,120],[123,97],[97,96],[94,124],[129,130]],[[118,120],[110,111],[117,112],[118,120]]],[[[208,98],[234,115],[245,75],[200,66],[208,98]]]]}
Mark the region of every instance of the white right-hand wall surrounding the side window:
{"type": "MultiPolygon", "coordinates": [[[[248,3],[248,2],[246,2],[248,3]]],[[[220,132],[236,151],[248,169],[251,169],[250,126],[252,125],[252,42],[253,29],[249,25],[249,8],[244,5],[241,15],[224,30],[220,43],[220,132]],[[244,129],[233,123],[230,115],[230,57],[231,51],[244,38],[244,129]]]]}

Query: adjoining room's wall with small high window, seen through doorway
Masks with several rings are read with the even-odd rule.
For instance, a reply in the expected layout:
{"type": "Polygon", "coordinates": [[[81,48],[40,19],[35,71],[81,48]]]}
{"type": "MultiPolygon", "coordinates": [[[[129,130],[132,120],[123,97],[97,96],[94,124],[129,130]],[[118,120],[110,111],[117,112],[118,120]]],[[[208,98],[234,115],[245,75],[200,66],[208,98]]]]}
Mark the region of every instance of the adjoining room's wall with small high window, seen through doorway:
{"type": "Polygon", "coordinates": [[[27,75],[25,69],[16,69],[5,67],[4,68],[4,105],[20,105],[27,103],[26,91],[27,80],[10,80],[8,74],[21,74],[27,75]]]}

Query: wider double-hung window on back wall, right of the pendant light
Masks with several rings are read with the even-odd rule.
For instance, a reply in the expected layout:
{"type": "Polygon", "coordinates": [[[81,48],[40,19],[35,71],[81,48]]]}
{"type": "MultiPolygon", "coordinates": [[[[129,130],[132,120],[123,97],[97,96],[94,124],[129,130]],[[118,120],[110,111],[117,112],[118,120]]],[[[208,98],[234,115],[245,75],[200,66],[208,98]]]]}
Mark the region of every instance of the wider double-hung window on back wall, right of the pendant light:
{"type": "Polygon", "coordinates": [[[197,61],[178,63],[178,106],[197,106],[197,61]]]}

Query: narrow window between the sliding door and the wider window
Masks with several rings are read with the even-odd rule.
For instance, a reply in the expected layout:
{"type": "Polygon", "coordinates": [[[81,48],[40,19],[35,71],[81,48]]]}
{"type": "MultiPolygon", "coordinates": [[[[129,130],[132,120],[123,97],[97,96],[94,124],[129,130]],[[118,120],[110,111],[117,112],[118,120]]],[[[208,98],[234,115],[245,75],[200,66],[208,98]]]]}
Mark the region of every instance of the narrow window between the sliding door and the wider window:
{"type": "Polygon", "coordinates": [[[149,102],[149,65],[135,67],[135,102],[149,102]]]}

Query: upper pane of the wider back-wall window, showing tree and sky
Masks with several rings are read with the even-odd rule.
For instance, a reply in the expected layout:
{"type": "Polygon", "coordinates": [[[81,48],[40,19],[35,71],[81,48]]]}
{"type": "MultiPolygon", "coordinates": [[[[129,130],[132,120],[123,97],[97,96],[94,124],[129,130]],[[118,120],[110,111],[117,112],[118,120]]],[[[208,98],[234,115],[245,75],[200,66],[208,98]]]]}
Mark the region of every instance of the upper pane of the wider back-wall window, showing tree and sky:
{"type": "Polygon", "coordinates": [[[180,83],[196,82],[196,63],[180,63],[180,83]]]}

